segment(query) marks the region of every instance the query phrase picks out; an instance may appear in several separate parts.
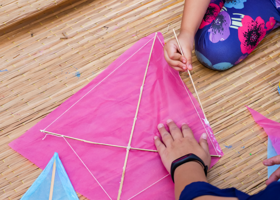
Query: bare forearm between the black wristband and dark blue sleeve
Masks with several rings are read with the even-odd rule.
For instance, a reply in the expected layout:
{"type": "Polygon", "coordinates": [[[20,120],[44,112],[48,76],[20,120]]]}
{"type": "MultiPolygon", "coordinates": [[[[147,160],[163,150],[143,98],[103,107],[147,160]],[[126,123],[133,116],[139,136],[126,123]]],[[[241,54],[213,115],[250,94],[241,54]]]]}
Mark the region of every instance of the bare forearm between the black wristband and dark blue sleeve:
{"type": "Polygon", "coordinates": [[[191,161],[177,167],[174,172],[175,199],[179,199],[186,185],[197,181],[207,182],[203,167],[200,163],[191,161]]]}

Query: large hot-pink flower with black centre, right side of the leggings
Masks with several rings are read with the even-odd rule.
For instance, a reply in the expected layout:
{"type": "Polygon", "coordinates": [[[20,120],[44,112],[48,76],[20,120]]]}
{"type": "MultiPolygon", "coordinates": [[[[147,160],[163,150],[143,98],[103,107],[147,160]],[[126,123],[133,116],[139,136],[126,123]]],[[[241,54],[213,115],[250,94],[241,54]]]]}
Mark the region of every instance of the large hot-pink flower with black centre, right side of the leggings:
{"type": "Polygon", "coordinates": [[[245,15],[241,23],[242,26],[238,28],[241,52],[250,54],[265,37],[265,22],[261,17],[257,17],[254,21],[250,16],[245,15]]]}

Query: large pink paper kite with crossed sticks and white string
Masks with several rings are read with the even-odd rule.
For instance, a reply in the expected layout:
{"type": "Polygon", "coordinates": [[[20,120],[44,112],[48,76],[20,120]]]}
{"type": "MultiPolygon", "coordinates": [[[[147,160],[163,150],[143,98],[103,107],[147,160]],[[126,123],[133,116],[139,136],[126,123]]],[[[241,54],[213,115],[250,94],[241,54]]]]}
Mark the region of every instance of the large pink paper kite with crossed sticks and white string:
{"type": "MultiPolygon", "coordinates": [[[[74,189],[89,199],[117,199],[123,169],[120,199],[174,199],[174,185],[159,154],[132,149],[156,150],[153,138],[159,136],[157,124],[165,124],[169,118],[177,124],[185,122],[197,140],[207,132],[210,154],[223,153],[197,100],[179,73],[166,63],[163,45],[161,33],[140,39],[9,145],[42,169],[57,152],[74,189]],[[40,130],[125,148],[46,135],[40,130]]],[[[212,158],[211,166],[218,159],[212,158]]]]}

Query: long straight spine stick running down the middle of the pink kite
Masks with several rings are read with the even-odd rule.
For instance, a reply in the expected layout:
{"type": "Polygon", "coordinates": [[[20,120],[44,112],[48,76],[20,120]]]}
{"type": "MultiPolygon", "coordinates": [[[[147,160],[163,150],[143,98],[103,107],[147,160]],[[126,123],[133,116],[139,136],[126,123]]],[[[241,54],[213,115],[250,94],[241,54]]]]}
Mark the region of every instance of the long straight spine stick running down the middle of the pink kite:
{"type": "MultiPolygon", "coordinates": [[[[138,115],[138,110],[139,110],[139,106],[140,106],[141,96],[142,96],[142,92],[143,92],[143,88],[144,88],[144,83],[145,83],[145,80],[146,80],[147,71],[148,71],[148,67],[149,67],[149,64],[150,64],[151,55],[152,55],[152,52],[153,52],[153,48],[154,48],[154,44],[155,44],[155,39],[156,38],[157,38],[157,33],[155,33],[153,45],[151,47],[151,51],[150,51],[150,55],[149,55],[149,59],[148,59],[148,64],[147,64],[147,67],[146,67],[146,71],[145,71],[145,74],[144,74],[142,86],[141,86],[141,89],[140,89],[139,100],[138,100],[138,104],[137,104],[137,108],[136,108],[136,112],[135,112],[135,117],[134,117],[133,125],[132,125],[132,128],[131,128],[130,138],[129,138],[129,142],[128,142],[127,146],[130,146],[130,144],[131,144],[131,140],[132,140],[132,136],[133,136],[133,131],[134,131],[134,127],[135,127],[135,123],[136,123],[136,119],[137,119],[137,115],[138,115]]],[[[123,180],[125,178],[125,168],[126,168],[126,164],[127,164],[128,153],[129,153],[129,149],[127,149],[126,155],[125,155],[125,163],[123,165],[123,173],[121,175],[121,184],[120,184],[117,200],[119,200],[121,198],[121,190],[123,188],[123,180]]]]}

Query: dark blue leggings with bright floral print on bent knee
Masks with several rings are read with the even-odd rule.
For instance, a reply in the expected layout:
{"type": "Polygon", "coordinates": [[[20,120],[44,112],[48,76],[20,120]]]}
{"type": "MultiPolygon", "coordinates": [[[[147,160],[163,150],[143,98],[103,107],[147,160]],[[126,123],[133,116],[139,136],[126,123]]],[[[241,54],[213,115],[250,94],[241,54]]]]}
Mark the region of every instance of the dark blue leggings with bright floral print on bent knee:
{"type": "Polygon", "coordinates": [[[204,66],[227,70],[279,26],[280,0],[211,0],[195,35],[195,54],[204,66]]]}

